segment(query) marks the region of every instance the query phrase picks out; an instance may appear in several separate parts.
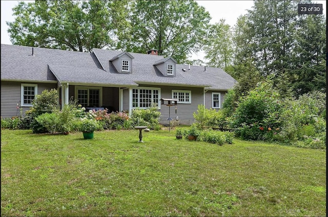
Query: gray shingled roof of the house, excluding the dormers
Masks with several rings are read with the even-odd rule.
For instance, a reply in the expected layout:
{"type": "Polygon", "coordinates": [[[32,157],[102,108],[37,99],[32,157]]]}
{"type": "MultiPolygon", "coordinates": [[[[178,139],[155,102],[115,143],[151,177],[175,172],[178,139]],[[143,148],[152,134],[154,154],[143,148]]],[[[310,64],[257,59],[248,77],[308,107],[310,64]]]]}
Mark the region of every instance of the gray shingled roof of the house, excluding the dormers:
{"type": "Polygon", "coordinates": [[[204,67],[190,66],[189,70],[189,66],[183,64],[176,64],[174,77],[163,76],[154,64],[166,58],[140,53],[130,53],[134,57],[132,73],[117,73],[110,60],[120,54],[122,51],[104,49],[84,53],[1,45],[1,80],[106,86],[179,85],[222,91],[229,90],[237,82],[222,69],[207,67],[204,71],[204,67]]]}

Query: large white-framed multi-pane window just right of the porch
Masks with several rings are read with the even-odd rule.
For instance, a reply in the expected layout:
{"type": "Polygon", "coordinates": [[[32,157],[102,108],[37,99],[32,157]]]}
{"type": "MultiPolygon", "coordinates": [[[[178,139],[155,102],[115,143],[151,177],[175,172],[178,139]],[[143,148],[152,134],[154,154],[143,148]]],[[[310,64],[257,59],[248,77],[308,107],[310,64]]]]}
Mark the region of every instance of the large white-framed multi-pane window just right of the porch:
{"type": "Polygon", "coordinates": [[[160,89],[132,89],[132,107],[133,108],[148,108],[153,103],[157,106],[160,97],[160,89]]]}

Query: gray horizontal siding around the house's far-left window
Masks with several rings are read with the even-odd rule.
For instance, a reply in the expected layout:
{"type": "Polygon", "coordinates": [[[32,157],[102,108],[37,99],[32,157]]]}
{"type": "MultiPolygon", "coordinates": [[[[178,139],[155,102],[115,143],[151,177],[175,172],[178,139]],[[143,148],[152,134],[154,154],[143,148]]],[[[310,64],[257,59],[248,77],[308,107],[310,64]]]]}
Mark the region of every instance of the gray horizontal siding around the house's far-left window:
{"type": "MultiPolygon", "coordinates": [[[[16,108],[17,102],[20,101],[20,84],[35,82],[9,82],[1,81],[1,117],[11,118],[20,115],[20,109],[16,108]]],[[[37,84],[37,94],[41,94],[44,90],[57,89],[56,83],[35,83],[37,84]]],[[[22,115],[30,109],[24,106],[22,115]]]]}

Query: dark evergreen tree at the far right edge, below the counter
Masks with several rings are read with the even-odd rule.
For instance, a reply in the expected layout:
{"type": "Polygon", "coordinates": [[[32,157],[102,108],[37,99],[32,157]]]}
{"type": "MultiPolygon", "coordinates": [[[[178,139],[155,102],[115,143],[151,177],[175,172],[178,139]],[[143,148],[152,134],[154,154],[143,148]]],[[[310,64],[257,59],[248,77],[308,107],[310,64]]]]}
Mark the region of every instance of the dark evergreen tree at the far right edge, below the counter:
{"type": "Polygon", "coordinates": [[[322,15],[302,15],[293,53],[293,90],[297,96],[314,90],[325,92],[326,22],[322,15]]]}

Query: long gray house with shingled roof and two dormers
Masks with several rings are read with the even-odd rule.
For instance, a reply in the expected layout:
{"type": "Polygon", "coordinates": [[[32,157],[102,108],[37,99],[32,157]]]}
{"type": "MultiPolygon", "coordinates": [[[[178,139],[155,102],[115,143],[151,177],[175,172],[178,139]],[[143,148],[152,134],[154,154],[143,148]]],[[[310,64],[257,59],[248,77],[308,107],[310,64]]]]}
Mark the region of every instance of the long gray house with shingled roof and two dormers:
{"type": "Polygon", "coordinates": [[[170,117],[181,124],[193,123],[198,104],[222,107],[224,94],[237,81],[219,68],[178,64],[169,57],[93,49],[92,53],[1,45],[1,116],[23,114],[36,94],[56,89],[58,104],[70,99],[98,109],[127,111],[158,105],[160,122],[170,117]],[[162,98],[178,99],[174,106],[162,98]],[[18,113],[19,114],[19,113],[18,113]]]}

